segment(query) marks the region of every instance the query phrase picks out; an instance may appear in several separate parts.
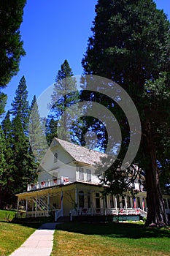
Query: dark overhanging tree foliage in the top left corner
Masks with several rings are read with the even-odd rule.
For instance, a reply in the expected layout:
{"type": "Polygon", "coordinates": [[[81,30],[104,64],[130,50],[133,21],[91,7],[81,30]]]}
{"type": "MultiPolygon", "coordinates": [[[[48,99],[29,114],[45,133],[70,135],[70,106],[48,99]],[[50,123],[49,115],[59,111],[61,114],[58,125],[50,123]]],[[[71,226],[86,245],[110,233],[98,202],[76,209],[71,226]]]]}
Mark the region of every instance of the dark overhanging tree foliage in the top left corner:
{"type": "Polygon", "coordinates": [[[19,70],[20,57],[26,53],[20,39],[20,24],[26,0],[0,1],[0,88],[19,70]]]}

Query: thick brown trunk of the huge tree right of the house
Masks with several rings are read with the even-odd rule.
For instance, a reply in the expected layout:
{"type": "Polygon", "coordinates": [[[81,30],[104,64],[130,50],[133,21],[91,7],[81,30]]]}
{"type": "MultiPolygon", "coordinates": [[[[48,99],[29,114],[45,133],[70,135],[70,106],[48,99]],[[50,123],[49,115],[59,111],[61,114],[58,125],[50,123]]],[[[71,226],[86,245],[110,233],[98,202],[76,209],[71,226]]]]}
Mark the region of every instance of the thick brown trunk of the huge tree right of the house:
{"type": "Polygon", "coordinates": [[[158,175],[155,143],[149,121],[144,124],[144,157],[147,159],[145,179],[147,187],[147,226],[169,225],[158,175]]]}

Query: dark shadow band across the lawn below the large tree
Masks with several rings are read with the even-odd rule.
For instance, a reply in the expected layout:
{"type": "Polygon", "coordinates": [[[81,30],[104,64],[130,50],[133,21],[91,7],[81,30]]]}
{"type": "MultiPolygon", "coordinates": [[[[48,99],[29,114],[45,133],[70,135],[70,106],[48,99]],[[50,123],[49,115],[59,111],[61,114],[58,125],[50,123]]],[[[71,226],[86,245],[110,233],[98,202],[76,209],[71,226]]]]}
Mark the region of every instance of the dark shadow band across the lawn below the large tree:
{"type": "Polygon", "coordinates": [[[168,228],[150,228],[136,223],[77,223],[69,222],[56,225],[57,230],[86,235],[100,235],[112,238],[163,238],[170,237],[168,228]]]}

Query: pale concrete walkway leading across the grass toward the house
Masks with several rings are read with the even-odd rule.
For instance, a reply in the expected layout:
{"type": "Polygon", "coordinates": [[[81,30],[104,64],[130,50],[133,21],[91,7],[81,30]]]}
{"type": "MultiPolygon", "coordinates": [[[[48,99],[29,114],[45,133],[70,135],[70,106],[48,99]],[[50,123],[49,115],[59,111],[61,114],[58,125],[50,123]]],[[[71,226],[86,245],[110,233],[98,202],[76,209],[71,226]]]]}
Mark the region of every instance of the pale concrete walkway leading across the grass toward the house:
{"type": "Polygon", "coordinates": [[[43,224],[10,256],[50,256],[55,225],[56,223],[43,224]]]}

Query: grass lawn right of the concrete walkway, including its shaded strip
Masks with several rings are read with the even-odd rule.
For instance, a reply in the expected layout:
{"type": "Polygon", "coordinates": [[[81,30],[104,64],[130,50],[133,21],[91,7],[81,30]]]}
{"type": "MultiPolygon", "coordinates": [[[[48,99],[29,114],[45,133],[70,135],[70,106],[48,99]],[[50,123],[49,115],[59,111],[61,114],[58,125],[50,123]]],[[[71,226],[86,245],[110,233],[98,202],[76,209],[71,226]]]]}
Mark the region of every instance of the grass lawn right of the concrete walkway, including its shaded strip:
{"type": "Polygon", "coordinates": [[[51,256],[168,256],[169,237],[169,228],[139,223],[65,223],[56,226],[51,256]]]}

